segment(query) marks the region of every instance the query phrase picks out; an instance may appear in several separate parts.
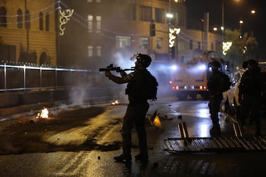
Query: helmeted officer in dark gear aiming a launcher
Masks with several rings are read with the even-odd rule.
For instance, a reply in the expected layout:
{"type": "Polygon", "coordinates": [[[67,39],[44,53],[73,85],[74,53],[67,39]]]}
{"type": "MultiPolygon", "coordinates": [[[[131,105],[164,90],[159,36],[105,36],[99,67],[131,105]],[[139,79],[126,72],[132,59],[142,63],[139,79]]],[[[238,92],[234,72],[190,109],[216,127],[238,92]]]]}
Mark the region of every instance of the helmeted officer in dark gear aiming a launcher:
{"type": "Polygon", "coordinates": [[[147,97],[143,95],[143,85],[145,85],[145,74],[147,67],[150,66],[152,59],[147,54],[138,54],[135,57],[135,71],[129,74],[122,71],[121,77],[105,71],[105,75],[114,83],[128,83],[126,94],[128,94],[129,104],[126,114],[123,116],[122,138],[123,138],[123,154],[114,157],[115,161],[131,160],[131,130],[133,126],[138,134],[138,146],[140,154],[135,156],[135,160],[147,161],[147,135],[145,130],[145,116],[149,109],[147,97]]]}

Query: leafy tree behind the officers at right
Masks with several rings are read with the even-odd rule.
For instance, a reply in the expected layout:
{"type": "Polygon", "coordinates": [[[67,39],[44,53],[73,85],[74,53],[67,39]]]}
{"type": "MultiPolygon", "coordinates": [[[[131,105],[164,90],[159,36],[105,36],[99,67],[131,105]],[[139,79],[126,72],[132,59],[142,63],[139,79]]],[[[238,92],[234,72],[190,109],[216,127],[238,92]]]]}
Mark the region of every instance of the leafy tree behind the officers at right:
{"type": "Polygon", "coordinates": [[[234,69],[242,68],[243,61],[256,58],[258,42],[247,32],[241,35],[240,30],[225,30],[224,41],[232,42],[224,58],[234,64],[234,69]]]}

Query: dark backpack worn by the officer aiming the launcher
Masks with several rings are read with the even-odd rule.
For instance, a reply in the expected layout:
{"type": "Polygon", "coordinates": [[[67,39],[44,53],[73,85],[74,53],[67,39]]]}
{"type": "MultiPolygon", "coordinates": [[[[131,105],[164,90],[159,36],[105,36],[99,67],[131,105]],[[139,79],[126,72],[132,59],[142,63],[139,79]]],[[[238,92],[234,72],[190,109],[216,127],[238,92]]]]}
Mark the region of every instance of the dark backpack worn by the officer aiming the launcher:
{"type": "Polygon", "coordinates": [[[152,101],[157,100],[157,87],[158,83],[155,76],[147,71],[145,82],[145,95],[147,99],[151,99],[152,101]]]}

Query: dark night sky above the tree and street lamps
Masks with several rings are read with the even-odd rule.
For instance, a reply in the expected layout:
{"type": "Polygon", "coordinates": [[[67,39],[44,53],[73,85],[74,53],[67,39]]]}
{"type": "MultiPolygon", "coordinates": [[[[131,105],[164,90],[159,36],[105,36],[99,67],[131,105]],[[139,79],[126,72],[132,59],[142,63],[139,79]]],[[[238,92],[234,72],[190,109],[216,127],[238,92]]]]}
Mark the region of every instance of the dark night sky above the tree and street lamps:
{"type": "MultiPolygon", "coordinates": [[[[239,19],[244,23],[242,32],[254,32],[254,37],[260,45],[260,50],[265,51],[265,11],[264,1],[262,0],[223,0],[224,1],[224,27],[231,30],[239,28],[239,19]],[[255,9],[255,15],[250,11],[255,9]]],[[[200,26],[200,18],[204,13],[209,13],[209,25],[212,29],[214,26],[222,25],[222,0],[186,0],[187,26],[188,28],[197,28],[200,26]]],[[[266,61],[266,55],[263,54],[266,61]]]]}

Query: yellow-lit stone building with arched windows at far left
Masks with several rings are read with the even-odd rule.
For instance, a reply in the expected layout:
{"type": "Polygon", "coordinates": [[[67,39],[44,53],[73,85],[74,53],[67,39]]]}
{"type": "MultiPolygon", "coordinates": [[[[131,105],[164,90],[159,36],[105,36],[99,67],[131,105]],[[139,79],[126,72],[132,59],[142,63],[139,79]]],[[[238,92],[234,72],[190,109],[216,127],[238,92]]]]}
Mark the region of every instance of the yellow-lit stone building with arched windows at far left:
{"type": "Polygon", "coordinates": [[[56,66],[54,0],[0,0],[0,61],[56,66]]]}

